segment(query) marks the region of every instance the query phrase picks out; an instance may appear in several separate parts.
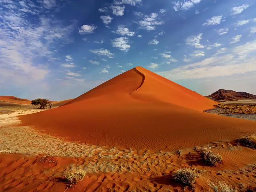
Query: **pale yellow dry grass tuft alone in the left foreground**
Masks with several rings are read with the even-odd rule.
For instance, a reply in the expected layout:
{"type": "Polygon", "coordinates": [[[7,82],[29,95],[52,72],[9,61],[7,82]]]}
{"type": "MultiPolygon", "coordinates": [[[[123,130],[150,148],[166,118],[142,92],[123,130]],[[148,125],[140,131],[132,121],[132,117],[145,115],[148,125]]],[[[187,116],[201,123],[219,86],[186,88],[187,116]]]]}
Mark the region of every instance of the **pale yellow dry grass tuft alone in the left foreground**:
{"type": "Polygon", "coordinates": [[[65,179],[71,184],[77,184],[79,181],[84,179],[86,174],[86,170],[82,167],[76,167],[64,172],[65,179]]]}

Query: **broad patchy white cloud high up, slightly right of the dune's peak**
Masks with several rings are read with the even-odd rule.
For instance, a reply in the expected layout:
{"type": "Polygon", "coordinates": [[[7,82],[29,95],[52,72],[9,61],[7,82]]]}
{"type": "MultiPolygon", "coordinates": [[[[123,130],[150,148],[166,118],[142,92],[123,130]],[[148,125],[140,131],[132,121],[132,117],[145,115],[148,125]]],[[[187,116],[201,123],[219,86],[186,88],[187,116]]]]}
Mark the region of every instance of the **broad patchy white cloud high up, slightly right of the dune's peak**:
{"type": "Polygon", "coordinates": [[[143,20],[140,20],[136,23],[139,24],[139,28],[146,29],[148,31],[155,30],[156,25],[163,25],[164,21],[157,21],[158,20],[157,13],[151,13],[150,15],[145,15],[143,20]]]}

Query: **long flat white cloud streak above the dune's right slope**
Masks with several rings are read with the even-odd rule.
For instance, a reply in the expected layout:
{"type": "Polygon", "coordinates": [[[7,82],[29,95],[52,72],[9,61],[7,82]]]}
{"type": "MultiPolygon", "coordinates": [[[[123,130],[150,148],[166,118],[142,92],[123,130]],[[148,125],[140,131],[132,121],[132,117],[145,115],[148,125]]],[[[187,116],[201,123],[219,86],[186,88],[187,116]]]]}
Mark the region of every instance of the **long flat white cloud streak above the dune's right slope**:
{"type": "MultiPolygon", "coordinates": [[[[254,44],[253,46],[255,46],[255,52],[256,42],[251,42],[247,45],[249,44],[254,44]]],[[[247,48],[247,45],[240,46],[236,51],[239,52],[243,50],[243,48],[247,48]]],[[[252,50],[250,50],[250,52],[252,52],[252,50]]],[[[241,53],[239,52],[239,54],[241,53]]],[[[236,56],[233,54],[228,54],[224,56],[217,55],[215,57],[207,58],[197,63],[174,68],[170,71],[158,72],[158,74],[172,80],[178,80],[231,76],[256,71],[256,65],[254,61],[255,57],[245,60],[245,57],[243,56],[244,55],[241,54],[241,57],[239,56],[236,58],[236,56]]]]}

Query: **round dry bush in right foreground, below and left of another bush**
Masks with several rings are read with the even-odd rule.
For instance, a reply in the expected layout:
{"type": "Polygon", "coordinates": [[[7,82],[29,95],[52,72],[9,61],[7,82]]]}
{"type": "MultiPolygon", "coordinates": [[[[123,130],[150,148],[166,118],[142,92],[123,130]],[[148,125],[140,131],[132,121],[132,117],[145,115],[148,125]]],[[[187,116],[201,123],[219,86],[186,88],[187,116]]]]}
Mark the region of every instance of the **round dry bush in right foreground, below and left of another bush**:
{"type": "Polygon", "coordinates": [[[199,174],[196,169],[183,168],[178,169],[172,174],[174,180],[184,183],[185,185],[193,186],[196,183],[196,178],[199,174]]]}

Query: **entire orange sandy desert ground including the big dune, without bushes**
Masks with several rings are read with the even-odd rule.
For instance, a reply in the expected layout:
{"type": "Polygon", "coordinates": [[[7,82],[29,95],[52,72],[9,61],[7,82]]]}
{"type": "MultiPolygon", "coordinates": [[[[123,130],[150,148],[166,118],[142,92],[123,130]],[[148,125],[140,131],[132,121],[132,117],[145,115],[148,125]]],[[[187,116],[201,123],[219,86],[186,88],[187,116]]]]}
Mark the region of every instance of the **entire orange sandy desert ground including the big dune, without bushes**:
{"type": "Polygon", "coordinates": [[[51,109],[0,101],[0,191],[255,191],[256,150],[237,140],[256,132],[253,103],[216,102],[142,67],[51,109]],[[78,168],[72,184],[65,172],[78,168]],[[193,185],[174,179],[183,168],[193,185]]]}

